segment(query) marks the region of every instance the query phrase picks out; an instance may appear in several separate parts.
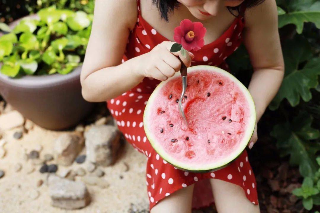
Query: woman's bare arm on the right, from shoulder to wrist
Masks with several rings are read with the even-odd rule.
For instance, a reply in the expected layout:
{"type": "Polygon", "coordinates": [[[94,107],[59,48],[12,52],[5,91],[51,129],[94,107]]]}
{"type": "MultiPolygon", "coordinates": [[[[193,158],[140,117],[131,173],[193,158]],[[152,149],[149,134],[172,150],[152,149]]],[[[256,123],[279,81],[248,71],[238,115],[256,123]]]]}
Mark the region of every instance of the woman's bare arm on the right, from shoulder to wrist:
{"type": "Polygon", "coordinates": [[[246,10],[244,44],[254,70],[248,89],[255,103],[258,122],[278,92],[284,76],[275,0],[265,0],[246,10]]]}

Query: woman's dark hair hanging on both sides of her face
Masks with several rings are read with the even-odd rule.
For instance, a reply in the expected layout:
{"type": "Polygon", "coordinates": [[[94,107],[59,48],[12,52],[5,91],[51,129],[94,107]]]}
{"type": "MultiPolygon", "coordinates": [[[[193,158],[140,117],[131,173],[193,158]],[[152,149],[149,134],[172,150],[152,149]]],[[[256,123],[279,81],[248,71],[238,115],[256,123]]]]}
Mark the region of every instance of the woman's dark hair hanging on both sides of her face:
{"type": "MultiPolygon", "coordinates": [[[[244,0],[240,5],[236,7],[228,7],[228,10],[235,15],[232,11],[240,12],[240,7],[254,7],[261,4],[264,0],[244,0]]],[[[179,7],[179,2],[177,0],[152,0],[152,3],[157,6],[160,16],[162,19],[168,21],[168,14],[172,13],[174,9],[179,7]]]]}

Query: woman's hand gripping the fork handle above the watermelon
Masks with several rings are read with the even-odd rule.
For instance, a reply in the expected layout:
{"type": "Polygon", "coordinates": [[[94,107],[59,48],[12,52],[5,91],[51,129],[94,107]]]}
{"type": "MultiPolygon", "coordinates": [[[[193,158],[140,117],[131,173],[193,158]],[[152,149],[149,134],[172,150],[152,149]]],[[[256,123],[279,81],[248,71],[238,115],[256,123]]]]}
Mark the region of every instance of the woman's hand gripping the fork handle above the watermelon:
{"type": "Polygon", "coordinates": [[[150,52],[134,58],[135,73],[141,78],[149,77],[157,80],[167,80],[175,72],[179,72],[181,61],[189,67],[194,55],[188,52],[190,57],[184,57],[180,51],[170,52],[172,44],[175,42],[164,41],[156,45],[150,52]],[[178,56],[178,57],[177,57],[178,56]]]}

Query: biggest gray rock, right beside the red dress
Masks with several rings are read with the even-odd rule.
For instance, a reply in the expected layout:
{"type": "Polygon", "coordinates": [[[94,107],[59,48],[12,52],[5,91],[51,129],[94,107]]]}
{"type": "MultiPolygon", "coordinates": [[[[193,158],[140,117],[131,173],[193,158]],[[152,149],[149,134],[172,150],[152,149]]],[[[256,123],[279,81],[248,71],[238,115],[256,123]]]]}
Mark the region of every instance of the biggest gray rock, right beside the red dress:
{"type": "Polygon", "coordinates": [[[111,125],[93,126],[85,134],[87,160],[102,166],[111,165],[120,146],[120,132],[111,125]]]}

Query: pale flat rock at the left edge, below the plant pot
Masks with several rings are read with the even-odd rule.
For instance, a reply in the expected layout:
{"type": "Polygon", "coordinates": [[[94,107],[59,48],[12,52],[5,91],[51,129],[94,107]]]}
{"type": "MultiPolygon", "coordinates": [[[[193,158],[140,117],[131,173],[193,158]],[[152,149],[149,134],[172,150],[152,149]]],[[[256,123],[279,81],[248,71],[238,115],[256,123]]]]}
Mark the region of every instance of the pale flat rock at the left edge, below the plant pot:
{"type": "Polygon", "coordinates": [[[0,130],[8,130],[23,125],[24,118],[17,111],[13,110],[0,115],[0,130]]]}

